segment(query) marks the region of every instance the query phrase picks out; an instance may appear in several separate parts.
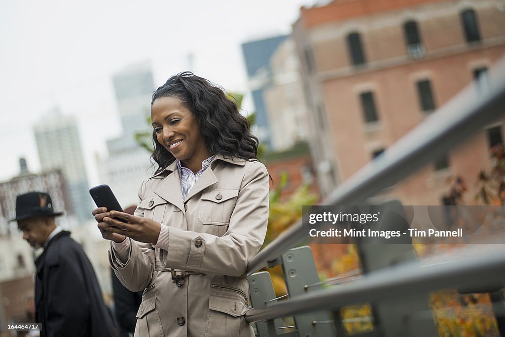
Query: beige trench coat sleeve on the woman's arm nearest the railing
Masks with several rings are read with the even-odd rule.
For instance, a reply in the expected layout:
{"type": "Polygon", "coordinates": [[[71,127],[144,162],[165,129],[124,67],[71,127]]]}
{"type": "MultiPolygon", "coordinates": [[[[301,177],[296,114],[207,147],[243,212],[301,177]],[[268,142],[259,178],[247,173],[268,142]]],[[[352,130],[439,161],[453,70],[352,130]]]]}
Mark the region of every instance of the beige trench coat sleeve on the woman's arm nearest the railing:
{"type": "Polygon", "coordinates": [[[251,162],[240,184],[227,232],[212,234],[168,230],[165,266],[207,274],[240,276],[260,250],[268,224],[269,175],[261,162],[251,162]],[[200,245],[201,241],[201,245],[200,245]]]}

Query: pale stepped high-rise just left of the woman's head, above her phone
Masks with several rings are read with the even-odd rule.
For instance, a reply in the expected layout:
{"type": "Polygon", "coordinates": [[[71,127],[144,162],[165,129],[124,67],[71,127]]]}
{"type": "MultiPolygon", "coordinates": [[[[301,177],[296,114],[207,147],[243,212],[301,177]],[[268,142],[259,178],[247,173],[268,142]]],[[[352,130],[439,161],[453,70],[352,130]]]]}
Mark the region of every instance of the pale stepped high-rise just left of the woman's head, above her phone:
{"type": "Polygon", "coordinates": [[[109,156],[97,158],[100,183],[111,187],[124,207],[138,203],[138,189],[149,178],[150,153],[135,140],[138,133],[152,132],[147,119],[155,88],[149,63],[129,66],[113,76],[123,128],[120,137],[107,141],[109,156]]]}

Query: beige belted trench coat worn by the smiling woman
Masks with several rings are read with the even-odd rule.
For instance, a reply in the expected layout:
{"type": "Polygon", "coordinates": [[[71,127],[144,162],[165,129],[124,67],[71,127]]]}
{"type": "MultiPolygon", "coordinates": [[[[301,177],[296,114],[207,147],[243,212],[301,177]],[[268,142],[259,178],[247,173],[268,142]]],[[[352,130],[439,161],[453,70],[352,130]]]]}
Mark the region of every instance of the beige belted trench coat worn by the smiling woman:
{"type": "Polygon", "coordinates": [[[245,269],[267,231],[265,165],[218,154],[186,200],[176,162],[166,170],[142,183],[135,215],[168,226],[167,249],[132,240],[126,263],[109,251],[121,283],[144,290],[135,337],[254,336],[245,269]]]}

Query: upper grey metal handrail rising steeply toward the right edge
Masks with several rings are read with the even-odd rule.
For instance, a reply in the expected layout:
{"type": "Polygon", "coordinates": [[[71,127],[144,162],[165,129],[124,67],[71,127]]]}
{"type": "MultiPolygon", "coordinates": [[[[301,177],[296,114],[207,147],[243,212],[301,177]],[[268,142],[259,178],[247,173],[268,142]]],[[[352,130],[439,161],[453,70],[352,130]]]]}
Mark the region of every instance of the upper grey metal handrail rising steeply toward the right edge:
{"type": "MultiPolygon", "coordinates": [[[[486,92],[479,92],[476,83],[469,84],[423,123],[343,182],[322,204],[358,204],[494,122],[505,112],[505,58],[492,68],[489,80],[491,83],[486,86],[486,92]]],[[[296,222],[249,261],[247,275],[274,261],[307,236],[301,220],[296,222]]]]}

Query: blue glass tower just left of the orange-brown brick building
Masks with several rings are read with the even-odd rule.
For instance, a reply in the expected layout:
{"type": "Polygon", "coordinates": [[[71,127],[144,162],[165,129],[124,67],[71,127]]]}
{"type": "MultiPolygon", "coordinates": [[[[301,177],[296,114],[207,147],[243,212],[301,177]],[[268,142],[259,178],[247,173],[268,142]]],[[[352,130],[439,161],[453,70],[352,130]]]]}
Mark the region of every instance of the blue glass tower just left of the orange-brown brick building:
{"type": "Polygon", "coordinates": [[[272,128],[263,94],[265,89],[270,87],[272,81],[270,58],[279,47],[279,44],[287,37],[287,35],[281,35],[242,44],[249,89],[256,108],[258,138],[270,149],[273,149],[272,128]]]}

